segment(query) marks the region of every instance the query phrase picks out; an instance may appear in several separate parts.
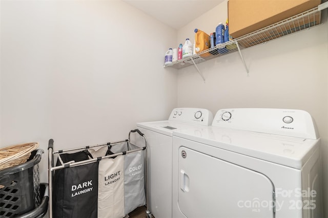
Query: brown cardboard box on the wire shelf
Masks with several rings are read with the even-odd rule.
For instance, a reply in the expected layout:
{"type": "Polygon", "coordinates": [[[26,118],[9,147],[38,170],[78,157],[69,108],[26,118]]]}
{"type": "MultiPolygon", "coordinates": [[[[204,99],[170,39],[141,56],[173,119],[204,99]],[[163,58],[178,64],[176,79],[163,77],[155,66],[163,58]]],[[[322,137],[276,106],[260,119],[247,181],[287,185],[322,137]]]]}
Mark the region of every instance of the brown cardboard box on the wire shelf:
{"type": "Polygon", "coordinates": [[[321,0],[229,0],[229,34],[238,38],[315,8],[320,3],[321,0]]]}

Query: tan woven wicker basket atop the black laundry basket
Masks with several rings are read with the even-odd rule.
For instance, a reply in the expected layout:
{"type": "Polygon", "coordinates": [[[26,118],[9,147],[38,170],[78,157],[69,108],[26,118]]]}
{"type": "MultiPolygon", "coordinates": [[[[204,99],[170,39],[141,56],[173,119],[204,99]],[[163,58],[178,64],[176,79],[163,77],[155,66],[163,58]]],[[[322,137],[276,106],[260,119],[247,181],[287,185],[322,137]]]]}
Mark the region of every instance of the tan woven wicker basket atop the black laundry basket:
{"type": "Polygon", "coordinates": [[[37,142],[12,145],[0,148],[0,170],[25,163],[31,151],[38,147],[37,142]]]}

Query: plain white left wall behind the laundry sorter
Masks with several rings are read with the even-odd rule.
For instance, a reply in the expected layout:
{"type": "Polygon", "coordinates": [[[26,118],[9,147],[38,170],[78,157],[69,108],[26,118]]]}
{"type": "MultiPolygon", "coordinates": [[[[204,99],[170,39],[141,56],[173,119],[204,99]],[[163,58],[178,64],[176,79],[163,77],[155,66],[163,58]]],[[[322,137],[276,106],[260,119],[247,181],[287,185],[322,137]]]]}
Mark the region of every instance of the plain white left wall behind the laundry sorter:
{"type": "Polygon", "coordinates": [[[1,1],[1,147],[114,142],[166,119],[177,74],[162,64],[176,37],[121,1],[1,1]]]}

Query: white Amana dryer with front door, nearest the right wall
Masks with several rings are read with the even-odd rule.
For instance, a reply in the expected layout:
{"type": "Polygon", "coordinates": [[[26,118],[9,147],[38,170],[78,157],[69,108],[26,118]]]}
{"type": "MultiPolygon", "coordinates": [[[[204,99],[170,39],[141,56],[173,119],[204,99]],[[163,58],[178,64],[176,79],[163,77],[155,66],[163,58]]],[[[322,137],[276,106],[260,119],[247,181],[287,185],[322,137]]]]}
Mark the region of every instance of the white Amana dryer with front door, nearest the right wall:
{"type": "Polygon", "coordinates": [[[212,126],[173,133],[172,216],[322,217],[320,171],[309,113],[219,110],[212,126]]]}

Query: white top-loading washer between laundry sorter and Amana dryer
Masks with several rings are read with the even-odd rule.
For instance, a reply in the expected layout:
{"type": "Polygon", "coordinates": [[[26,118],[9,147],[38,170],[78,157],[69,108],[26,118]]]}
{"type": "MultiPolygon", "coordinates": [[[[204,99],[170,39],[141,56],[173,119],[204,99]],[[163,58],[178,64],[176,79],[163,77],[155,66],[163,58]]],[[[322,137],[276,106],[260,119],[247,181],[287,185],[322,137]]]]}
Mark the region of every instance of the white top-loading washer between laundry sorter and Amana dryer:
{"type": "Polygon", "coordinates": [[[156,218],[172,217],[172,136],[194,126],[208,126],[212,112],[203,108],[174,108],[169,120],[137,123],[147,138],[148,208],[156,218]]]}

